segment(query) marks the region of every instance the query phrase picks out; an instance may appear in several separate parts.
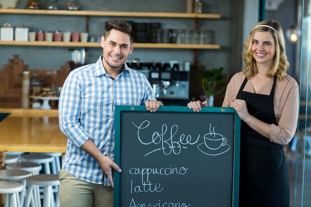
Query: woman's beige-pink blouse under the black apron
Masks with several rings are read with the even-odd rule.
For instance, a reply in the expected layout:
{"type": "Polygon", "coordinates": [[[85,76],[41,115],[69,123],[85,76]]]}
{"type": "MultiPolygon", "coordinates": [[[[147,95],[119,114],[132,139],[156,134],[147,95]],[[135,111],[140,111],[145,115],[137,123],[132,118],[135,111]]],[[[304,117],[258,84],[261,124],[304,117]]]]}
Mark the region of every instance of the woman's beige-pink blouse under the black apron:
{"type": "MultiPolygon", "coordinates": [[[[227,85],[223,107],[229,107],[245,78],[243,71],[233,75],[227,85]]],[[[273,79],[263,86],[258,93],[269,95],[273,79]]],[[[243,91],[255,93],[251,81],[247,81],[243,91]]],[[[274,91],[274,114],[278,125],[270,124],[270,140],[278,144],[288,144],[297,130],[299,110],[299,86],[297,81],[285,75],[282,81],[276,80],[274,91]]]]}

